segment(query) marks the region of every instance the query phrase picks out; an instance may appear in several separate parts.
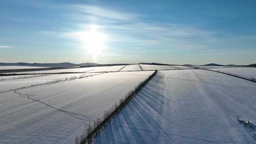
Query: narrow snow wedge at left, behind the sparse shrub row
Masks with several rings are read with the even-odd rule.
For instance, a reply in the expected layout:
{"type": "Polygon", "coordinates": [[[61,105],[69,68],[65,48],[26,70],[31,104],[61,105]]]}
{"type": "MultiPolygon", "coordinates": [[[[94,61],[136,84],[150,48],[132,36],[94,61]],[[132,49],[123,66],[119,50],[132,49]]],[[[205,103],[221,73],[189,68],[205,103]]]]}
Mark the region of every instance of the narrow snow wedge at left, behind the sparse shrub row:
{"type": "MultiPolygon", "coordinates": [[[[14,80],[5,80],[0,81],[0,92],[7,90],[15,90],[19,88],[29,87],[31,85],[38,85],[43,83],[49,83],[51,81],[61,81],[71,79],[72,77],[85,77],[93,76],[100,73],[71,73],[71,74],[56,74],[48,76],[39,76],[39,77],[28,77],[24,79],[14,79],[14,80]]],[[[22,75],[24,76],[24,75],[22,75]]]]}

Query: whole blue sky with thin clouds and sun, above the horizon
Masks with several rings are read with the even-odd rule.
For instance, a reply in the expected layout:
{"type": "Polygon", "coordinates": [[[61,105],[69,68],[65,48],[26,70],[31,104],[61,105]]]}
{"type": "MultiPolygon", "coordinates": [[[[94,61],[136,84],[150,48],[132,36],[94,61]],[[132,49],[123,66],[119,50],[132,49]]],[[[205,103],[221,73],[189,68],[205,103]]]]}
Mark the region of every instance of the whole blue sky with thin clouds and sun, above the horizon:
{"type": "Polygon", "coordinates": [[[256,0],[0,0],[0,62],[256,63],[256,0]]]}

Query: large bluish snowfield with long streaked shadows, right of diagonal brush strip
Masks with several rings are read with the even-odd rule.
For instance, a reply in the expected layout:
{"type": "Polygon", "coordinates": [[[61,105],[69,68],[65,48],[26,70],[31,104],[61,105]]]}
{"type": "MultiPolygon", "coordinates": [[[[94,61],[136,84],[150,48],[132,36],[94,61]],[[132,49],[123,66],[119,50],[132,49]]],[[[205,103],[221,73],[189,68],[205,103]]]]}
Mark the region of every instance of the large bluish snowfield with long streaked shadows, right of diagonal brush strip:
{"type": "MultiPolygon", "coordinates": [[[[234,68],[235,69],[235,68],[234,68]]],[[[255,144],[254,82],[205,70],[158,71],[94,144],[255,144]]]]}

